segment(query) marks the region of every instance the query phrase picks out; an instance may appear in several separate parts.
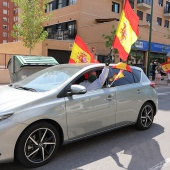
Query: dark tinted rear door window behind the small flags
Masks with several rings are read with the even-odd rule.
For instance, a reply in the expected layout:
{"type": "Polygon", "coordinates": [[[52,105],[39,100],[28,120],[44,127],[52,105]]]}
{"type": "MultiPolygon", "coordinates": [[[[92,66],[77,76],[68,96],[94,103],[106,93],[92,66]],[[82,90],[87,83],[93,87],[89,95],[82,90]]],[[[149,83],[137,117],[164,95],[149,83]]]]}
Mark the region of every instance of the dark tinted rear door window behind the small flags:
{"type": "MultiPolygon", "coordinates": [[[[112,78],[115,74],[118,74],[119,71],[120,71],[119,69],[110,69],[108,81],[111,80],[110,78],[112,78]]],[[[111,87],[136,83],[133,73],[130,73],[124,70],[123,74],[124,74],[124,77],[119,78],[118,80],[115,80],[112,83],[111,87]]],[[[108,83],[111,84],[111,81],[109,81],[108,83]]]]}

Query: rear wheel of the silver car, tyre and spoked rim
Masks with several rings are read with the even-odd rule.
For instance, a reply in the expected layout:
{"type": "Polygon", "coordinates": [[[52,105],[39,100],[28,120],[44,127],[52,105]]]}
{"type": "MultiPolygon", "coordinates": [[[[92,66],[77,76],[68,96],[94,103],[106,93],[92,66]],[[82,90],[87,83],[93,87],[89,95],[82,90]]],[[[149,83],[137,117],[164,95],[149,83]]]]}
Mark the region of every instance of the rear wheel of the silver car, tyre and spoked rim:
{"type": "Polygon", "coordinates": [[[151,127],[154,119],[154,108],[150,102],[145,103],[138,115],[136,127],[140,130],[147,130],[151,127]]]}

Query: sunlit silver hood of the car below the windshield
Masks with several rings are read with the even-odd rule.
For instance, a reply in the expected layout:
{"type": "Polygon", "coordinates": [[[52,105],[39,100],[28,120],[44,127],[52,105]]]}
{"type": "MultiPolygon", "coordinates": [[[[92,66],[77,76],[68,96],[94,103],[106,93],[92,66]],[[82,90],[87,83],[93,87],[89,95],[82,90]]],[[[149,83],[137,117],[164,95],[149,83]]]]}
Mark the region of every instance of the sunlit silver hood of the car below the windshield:
{"type": "Polygon", "coordinates": [[[37,100],[42,96],[43,93],[3,86],[0,88],[0,112],[37,100]]]}

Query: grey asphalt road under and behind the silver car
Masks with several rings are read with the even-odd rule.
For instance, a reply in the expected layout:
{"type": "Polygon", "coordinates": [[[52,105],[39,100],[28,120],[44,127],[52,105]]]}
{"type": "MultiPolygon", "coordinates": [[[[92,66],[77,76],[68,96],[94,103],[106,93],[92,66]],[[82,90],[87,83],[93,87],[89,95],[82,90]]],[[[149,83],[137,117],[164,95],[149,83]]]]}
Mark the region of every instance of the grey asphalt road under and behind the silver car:
{"type": "MultiPolygon", "coordinates": [[[[61,147],[55,158],[36,170],[169,170],[170,87],[156,88],[159,111],[147,131],[124,127],[61,147]]],[[[25,170],[18,163],[0,170],[25,170]]]]}

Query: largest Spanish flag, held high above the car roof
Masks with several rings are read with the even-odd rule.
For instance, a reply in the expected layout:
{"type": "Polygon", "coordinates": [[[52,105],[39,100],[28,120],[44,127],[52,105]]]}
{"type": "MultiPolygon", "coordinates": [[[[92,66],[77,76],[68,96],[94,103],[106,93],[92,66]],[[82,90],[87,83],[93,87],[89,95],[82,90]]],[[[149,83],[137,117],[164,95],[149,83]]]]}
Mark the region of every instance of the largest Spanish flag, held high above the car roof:
{"type": "Polygon", "coordinates": [[[132,44],[137,40],[139,17],[130,6],[129,0],[125,1],[121,18],[112,46],[119,51],[119,57],[126,61],[132,44]]]}

